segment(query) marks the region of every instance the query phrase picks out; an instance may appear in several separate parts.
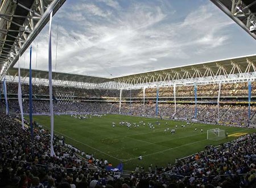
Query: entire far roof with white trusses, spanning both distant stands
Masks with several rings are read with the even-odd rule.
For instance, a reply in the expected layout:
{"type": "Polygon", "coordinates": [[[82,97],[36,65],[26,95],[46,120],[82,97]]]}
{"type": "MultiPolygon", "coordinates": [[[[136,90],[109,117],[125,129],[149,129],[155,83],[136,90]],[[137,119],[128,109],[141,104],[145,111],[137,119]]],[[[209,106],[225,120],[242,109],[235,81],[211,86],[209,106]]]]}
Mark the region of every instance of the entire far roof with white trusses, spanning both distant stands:
{"type": "MultiPolygon", "coordinates": [[[[150,85],[172,85],[174,83],[255,80],[256,55],[203,62],[200,64],[191,64],[115,78],[101,78],[55,72],[53,72],[52,75],[53,84],[55,85],[112,89],[150,85]]],[[[6,76],[7,80],[16,81],[18,69],[10,68],[6,76]]],[[[27,82],[29,70],[22,69],[21,76],[23,77],[23,82],[27,82]]],[[[34,83],[47,84],[48,72],[33,70],[32,78],[34,78],[34,83]]]]}

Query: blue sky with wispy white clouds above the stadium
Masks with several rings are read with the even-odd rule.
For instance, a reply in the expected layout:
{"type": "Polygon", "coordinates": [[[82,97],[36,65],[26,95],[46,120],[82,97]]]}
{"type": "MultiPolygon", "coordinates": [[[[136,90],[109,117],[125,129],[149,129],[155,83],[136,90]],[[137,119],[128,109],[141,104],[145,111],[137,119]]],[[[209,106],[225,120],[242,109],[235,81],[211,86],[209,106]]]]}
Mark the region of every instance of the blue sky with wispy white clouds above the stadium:
{"type": "MultiPolygon", "coordinates": [[[[36,70],[48,70],[48,27],[32,42],[36,70]]],[[[206,0],[67,0],[52,22],[56,72],[112,78],[255,49],[253,37],[206,0]]],[[[21,62],[28,68],[28,50],[21,62]]]]}

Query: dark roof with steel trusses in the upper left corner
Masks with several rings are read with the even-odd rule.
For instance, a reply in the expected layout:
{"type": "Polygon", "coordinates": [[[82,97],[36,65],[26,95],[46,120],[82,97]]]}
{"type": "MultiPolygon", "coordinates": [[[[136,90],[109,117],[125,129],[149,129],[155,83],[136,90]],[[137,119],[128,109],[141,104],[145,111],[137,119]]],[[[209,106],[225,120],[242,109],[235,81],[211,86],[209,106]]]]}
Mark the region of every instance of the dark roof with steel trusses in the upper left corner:
{"type": "MultiPolygon", "coordinates": [[[[0,1],[1,2],[1,1],[0,1]]],[[[0,14],[0,76],[14,66],[65,0],[3,0],[0,14]]]]}

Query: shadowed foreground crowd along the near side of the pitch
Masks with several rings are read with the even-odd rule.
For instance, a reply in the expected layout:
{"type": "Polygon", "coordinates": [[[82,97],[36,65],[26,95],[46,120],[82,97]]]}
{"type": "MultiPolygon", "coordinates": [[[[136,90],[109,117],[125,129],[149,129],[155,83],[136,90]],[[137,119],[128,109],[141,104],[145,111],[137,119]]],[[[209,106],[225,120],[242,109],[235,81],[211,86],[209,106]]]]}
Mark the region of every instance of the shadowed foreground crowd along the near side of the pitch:
{"type": "Polygon", "coordinates": [[[0,114],[0,187],[248,187],[255,183],[256,134],[246,135],[168,163],[135,169],[130,176],[107,172],[108,160],[79,151],[55,135],[55,157],[49,156],[47,130],[22,129],[13,116],[0,114]],[[77,154],[83,155],[80,158],[77,154]],[[96,168],[98,166],[98,168],[96,168]],[[148,171],[148,172],[146,172],[148,171]]]}

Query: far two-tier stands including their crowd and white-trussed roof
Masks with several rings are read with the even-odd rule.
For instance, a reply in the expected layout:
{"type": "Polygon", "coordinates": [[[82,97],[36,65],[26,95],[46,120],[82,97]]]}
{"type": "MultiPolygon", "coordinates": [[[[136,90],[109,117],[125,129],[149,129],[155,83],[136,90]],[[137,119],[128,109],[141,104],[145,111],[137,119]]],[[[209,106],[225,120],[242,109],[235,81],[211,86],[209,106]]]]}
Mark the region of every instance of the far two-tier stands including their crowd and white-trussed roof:
{"type": "MultiPolygon", "coordinates": [[[[55,112],[255,124],[255,61],[255,55],[236,57],[116,78],[53,73],[55,112]]],[[[15,68],[10,68],[6,75],[8,98],[14,111],[18,110],[17,75],[15,68]]],[[[22,71],[24,104],[28,103],[28,75],[28,70],[22,71]]],[[[34,112],[48,113],[48,72],[34,70],[32,78],[37,106],[34,112]]]]}

